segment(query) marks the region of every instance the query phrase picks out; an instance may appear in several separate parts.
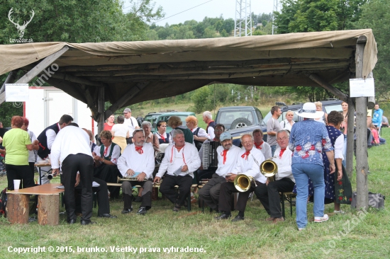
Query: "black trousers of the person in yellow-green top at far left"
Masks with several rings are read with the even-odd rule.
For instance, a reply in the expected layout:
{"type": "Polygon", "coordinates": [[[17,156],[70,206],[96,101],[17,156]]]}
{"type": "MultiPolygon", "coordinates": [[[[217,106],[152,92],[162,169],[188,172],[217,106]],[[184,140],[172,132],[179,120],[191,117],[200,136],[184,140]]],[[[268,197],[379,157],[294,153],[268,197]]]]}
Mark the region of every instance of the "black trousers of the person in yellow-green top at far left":
{"type": "Polygon", "coordinates": [[[34,173],[31,172],[30,166],[13,166],[6,163],[8,190],[14,190],[13,180],[21,180],[19,188],[33,187],[34,173]]]}

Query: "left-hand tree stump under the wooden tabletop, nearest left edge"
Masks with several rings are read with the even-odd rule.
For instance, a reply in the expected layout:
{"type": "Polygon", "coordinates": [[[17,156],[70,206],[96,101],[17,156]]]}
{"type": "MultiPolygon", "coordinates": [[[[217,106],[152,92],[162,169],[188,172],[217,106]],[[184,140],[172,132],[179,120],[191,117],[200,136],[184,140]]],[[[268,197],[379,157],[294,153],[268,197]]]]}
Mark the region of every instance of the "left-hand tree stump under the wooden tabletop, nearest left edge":
{"type": "Polygon", "coordinates": [[[11,224],[28,224],[30,195],[7,193],[6,213],[11,224]]]}

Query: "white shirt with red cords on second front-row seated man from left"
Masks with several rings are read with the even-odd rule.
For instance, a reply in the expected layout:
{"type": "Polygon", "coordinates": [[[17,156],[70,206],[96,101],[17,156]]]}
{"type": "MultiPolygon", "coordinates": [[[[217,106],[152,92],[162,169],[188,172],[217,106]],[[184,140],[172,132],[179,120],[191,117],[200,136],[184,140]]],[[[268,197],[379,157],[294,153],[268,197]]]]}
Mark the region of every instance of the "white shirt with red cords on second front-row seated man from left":
{"type": "Polygon", "coordinates": [[[194,171],[198,170],[201,166],[201,159],[199,159],[198,149],[188,142],[185,142],[180,151],[174,147],[174,144],[169,144],[165,149],[165,156],[162,159],[160,168],[157,173],[157,177],[162,177],[165,172],[169,175],[174,175],[174,171],[180,168],[180,166],[188,166],[188,170],[181,172],[179,175],[191,175],[194,178],[194,171]]]}

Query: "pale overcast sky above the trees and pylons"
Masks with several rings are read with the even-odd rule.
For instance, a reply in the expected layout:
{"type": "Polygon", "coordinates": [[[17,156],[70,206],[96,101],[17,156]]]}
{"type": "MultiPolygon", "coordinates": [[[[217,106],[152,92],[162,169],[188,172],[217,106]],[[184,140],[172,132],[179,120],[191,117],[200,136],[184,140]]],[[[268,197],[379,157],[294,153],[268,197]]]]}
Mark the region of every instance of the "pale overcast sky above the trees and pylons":
{"type": "MultiPolygon", "coordinates": [[[[202,21],[205,16],[207,17],[219,17],[223,18],[235,18],[235,2],[236,0],[152,0],[155,1],[156,6],[162,6],[165,12],[165,20],[159,21],[157,25],[165,25],[165,23],[176,24],[184,23],[184,21],[195,20],[202,21]],[[208,2],[209,1],[209,2],[208,2]],[[208,2],[208,3],[207,3],[208,2]],[[206,3],[206,4],[203,4],[206,3]],[[198,6],[199,4],[203,4],[198,6]],[[189,11],[185,11],[191,7],[198,6],[189,11]],[[180,13],[185,11],[184,13],[180,13]],[[176,13],[180,13],[177,16],[173,16],[176,13]],[[168,18],[169,16],[173,16],[168,18]]],[[[240,0],[238,0],[240,1],[240,0]]],[[[246,0],[250,1],[250,0],[246,0]]],[[[134,1],[136,2],[136,0],[134,1]]],[[[245,2],[245,0],[243,0],[245,2]]],[[[252,12],[259,13],[271,13],[274,0],[252,0],[251,7],[252,12]]],[[[129,0],[125,0],[124,10],[130,6],[129,0]]]]}

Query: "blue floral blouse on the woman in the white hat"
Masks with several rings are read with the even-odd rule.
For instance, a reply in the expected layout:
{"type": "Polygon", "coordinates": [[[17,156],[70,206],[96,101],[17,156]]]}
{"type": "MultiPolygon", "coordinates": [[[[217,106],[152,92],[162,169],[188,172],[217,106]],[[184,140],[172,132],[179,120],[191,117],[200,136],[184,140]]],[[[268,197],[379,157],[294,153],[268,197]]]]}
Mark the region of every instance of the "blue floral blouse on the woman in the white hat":
{"type": "Polygon", "coordinates": [[[306,119],[293,125],[289,149],[293,151],[291,164],[315,163],[323,166],[322,152],[332,151],[333,146],[325,125],[306,119]]]}

